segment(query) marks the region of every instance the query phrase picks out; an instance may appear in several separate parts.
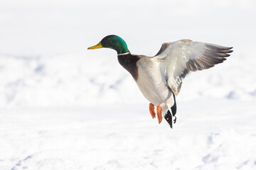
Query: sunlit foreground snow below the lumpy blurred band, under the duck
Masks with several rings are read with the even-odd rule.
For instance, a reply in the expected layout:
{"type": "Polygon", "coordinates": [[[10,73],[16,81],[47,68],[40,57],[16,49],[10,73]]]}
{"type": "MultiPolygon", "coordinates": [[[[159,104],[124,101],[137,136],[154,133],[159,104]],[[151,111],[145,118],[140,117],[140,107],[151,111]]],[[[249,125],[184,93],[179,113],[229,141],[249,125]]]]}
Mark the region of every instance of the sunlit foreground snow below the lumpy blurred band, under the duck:
{"type": "Polygon", "coordinates": [[[146,104],[1,109],[0,169],[255,169],[254,103],[178,103],[174,130],[146,104]]]}

